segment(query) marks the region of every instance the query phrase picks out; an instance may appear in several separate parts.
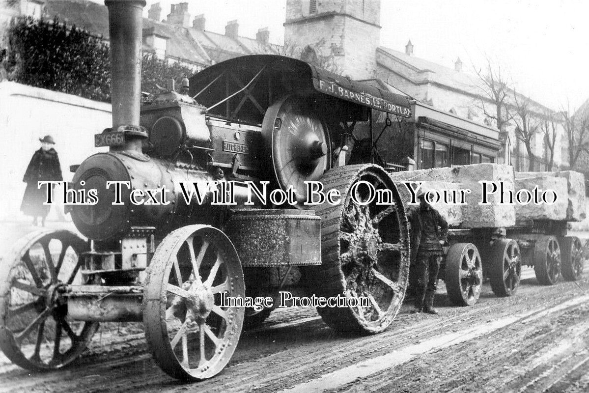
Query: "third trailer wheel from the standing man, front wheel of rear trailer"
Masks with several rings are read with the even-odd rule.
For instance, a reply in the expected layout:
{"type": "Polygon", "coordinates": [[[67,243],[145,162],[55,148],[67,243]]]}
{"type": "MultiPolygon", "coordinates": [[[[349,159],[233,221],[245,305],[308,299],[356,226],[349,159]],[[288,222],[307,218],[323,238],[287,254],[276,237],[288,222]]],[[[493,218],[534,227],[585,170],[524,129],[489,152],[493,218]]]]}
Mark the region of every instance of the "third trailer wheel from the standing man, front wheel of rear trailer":
{"type": "Polygon", "coordinates": [[[534,245],[534,272],[542,285],[554,285],[560,278],[561,252],[554,236],[540,236],[534,245]]]}

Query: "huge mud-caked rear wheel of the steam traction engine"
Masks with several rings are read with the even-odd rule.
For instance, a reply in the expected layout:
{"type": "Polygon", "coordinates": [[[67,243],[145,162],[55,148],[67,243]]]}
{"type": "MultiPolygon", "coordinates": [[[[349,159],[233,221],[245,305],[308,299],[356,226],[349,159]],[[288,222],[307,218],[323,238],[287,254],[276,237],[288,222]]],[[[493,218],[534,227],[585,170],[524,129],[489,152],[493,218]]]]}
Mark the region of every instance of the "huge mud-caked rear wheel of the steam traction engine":
{"type": "MultiPolygon", "coordinates": [[[[339,331],[382,332],[401,308],[409,276],[409,235],[401,197],[386,171],[372,164],[332,169],[322,182],[326,190],[340,191],[342,203],[316,209],[322,217],[322,265],[307,268],[311,292],[326,298],[365,296],[369,306],[317,311],[339,331]],[[361,180],[377,190],[391,190],[395,204],[356,203],[350,189],[361,180]]],[[[360,183],[355,190],[361,203],[368,188],[360,183]]]]}

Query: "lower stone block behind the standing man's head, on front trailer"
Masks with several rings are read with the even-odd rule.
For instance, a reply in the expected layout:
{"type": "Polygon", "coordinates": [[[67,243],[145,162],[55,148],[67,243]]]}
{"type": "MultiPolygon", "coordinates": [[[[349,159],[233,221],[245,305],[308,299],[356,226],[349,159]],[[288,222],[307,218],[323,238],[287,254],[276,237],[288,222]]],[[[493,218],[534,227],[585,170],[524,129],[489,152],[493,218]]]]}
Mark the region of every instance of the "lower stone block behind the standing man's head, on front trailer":
{"type": "MultiPolygon", "coordinates": [[[[413,184],[413,187],[416,189],[418,184],[413,184]]],[[[451,183],[449,181],[422,181],[418,192],[427,192],[430,190],[432,190],[432,192],[437,191],[440,200],[438,203],[432,203],[432,207],[438,210],[442,217],[446,219],[448,226],[458,228],[462,224],[462,206],[455,203],[453,190],[458,190],[460,188],[460,184],[451,183]],[[444,192],[443,190],[445,190],[447,194],[446,198],[444,198],[444,194],[442,194],[444,192]],[[448,203],[446,203],[445,200],[448,201],[448,203]]],[[[397,183],[397,189],[399,190],[399,194],[401,194],[401,199],[403,200],[405,207],[411,206],[409,205],[409,202],[411,201],[411,193],[405,184],[397,183]]],[[[459,198],[459,196],[457,197],[459,198]]],[[[466,198],[468,198],[468,196],[466,196],[466,198]]]]}

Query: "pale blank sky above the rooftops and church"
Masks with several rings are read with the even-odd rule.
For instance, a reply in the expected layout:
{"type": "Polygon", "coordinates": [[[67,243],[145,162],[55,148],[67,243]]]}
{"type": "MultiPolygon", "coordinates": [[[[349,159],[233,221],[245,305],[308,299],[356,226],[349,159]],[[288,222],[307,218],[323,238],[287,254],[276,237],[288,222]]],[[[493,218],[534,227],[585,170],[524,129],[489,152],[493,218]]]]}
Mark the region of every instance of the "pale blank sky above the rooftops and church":
{"type": "MultiPolygon", "coordinates": [[[[162,18],[180,1],[187,0],[161,0],[162,18]]],[[[155,2],[147,0],[145,16],[155,2]]],[[[255,37],[268,27],[276,44],[284,37],[285,6],[286,0],[188,0],[192,16],[205,15],[208,31],[224,33],[237,19],[240,35],[255,37]]],[[[450,68],[459,57],[464,72],[484,70],[489,58],[519,93],[574,111],[589,99],[588,15],[587,0],[382,0],[380,45],[403,51],[411,39],[416,57],[450,68]]]]}

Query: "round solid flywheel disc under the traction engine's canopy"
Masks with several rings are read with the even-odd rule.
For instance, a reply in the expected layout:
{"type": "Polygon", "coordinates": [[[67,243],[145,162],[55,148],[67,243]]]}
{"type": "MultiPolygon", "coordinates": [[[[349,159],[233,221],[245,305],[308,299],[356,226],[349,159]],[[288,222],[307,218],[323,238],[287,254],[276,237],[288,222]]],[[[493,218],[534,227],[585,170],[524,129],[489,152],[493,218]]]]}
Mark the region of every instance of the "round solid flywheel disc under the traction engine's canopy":
{"type": "Polygon", "coordinates": [[[293,186],[294,206],[307,209],[304,182],[319,180],[331,167],[329,132],[312,101],[288,94],[270,105],[262,136],[274,187],[293,186]]]}

